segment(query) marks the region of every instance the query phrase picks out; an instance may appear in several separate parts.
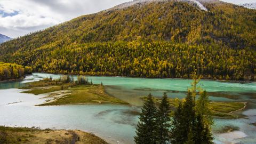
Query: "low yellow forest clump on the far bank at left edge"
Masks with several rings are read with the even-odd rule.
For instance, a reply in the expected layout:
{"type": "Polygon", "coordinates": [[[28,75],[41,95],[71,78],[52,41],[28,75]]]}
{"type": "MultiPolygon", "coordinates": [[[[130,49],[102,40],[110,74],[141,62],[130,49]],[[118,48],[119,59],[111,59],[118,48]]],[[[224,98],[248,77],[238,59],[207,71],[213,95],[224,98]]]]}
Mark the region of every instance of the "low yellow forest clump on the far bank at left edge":
{"type": "Polygon", "coordinates": [[[0,81],[9,79],[19,79],[25,74],[31,74],[33,69],[31,67],[23,67],[14,63],[0,62],[0,81]]]}

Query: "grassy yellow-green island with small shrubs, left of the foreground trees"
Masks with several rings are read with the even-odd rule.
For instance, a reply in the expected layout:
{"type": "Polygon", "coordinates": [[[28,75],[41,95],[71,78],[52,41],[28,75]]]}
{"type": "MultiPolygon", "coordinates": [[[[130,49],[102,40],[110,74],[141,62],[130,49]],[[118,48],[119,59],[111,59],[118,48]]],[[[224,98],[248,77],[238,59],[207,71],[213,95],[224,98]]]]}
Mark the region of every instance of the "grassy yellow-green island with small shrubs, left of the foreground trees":
{"type": "Polygon", "coordinates": [[[22,89],[30,89],[23,93],[33,93],[36,95],[49,93],[45,97],[48,98],[46,102],[38,106],[79,105],[105,102],[128,104],[106,94],[102,84],[95,85],[84,76],[78,76],[77,81],[70,76],[63,76],[60,79],[45,78],[38,82],[29,83],[28,86],[22,89]]]}

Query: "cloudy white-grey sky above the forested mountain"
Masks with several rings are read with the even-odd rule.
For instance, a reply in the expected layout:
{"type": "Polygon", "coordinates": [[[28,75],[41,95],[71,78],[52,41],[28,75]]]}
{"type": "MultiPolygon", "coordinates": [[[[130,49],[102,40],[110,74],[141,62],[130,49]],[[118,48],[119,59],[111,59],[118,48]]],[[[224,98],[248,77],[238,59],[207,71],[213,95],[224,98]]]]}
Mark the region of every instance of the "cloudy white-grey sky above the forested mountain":
{"type": "MultiPolygon", "coordinates": [[[[0,0],[0,34],[15,38],[131,0],[0,0]]],[[[249,3],[256,0],[225,0],[249,3]]]]}

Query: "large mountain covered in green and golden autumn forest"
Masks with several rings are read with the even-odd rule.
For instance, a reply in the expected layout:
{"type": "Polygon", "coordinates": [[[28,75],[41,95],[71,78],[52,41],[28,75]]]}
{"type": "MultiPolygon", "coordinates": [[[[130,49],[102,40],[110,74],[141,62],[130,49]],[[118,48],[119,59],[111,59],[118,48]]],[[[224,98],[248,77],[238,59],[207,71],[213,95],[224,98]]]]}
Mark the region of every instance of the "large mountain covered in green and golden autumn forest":
{"type": "MultiPolygon", "coordinates": [[[[221,1],[139,2],[0,45],[0,61],[63,74],[256,81],[256,11],[221,1]]],[[[124,4],[125,5],[125,4],[124,4]]]]}

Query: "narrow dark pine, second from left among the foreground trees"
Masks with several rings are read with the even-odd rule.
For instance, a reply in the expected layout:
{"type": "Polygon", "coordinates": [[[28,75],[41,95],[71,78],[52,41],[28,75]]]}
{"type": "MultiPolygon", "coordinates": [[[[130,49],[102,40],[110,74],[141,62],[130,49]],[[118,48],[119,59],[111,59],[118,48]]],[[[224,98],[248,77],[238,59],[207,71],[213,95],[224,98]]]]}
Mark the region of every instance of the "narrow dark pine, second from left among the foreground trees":
{"type": "Polygon", "coordinates": [[[158,120],[157,120],[157,143],[168,143],[169,142],[169,131],[170,131],[170,103],[168,101],[167,94],[164,93],[162,101],[159,105],[158,120]]]}

